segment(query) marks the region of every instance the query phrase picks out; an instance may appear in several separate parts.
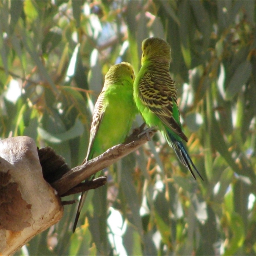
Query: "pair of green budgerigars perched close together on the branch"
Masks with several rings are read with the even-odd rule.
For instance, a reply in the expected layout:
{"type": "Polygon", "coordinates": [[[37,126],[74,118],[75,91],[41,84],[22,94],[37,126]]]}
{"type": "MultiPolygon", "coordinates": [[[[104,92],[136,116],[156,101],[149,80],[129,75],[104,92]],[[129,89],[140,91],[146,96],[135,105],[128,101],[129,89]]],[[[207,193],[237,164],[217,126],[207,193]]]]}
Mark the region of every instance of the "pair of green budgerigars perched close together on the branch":
{"type": "MultiPolygon", "coordinates": [[[[127,62],[116,64],[108,70],[95,104],[84,162],[124,142],[139,110],[149,127],[159,129],[193,177],[196,179],[191,165],[203,180],[182,143],[182,140],[187,142],[188,138],[180,123],[176,86],[169,73],[170,59],[170,45],[161,38],[151,37],[142,42],[141,68],[136,78],[132,66],[127,62]]],[[[83,192],[73,232],[85,197],[86,192],[83,192]]]]}

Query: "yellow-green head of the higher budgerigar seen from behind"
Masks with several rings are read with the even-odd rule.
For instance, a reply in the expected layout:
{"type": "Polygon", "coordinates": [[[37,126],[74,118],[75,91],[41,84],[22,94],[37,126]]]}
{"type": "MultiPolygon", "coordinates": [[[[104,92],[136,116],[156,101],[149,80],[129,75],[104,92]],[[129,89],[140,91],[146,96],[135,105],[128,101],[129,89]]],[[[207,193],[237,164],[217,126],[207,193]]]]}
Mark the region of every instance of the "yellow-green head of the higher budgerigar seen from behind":
{"type": "Polygon", "coordinates": [[[149,37],[141,44],[142,56],[141,63],[145,60],[157,60],[163,63],[170,63],[171,47],[159,37],[149,37]]]}

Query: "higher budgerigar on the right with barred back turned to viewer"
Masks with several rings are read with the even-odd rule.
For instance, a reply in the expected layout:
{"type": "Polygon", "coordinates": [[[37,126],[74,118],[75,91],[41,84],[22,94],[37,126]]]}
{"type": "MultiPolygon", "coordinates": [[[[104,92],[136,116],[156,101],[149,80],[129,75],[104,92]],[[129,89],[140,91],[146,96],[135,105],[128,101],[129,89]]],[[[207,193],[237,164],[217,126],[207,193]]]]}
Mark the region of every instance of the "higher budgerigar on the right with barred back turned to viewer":
{"type": "Polygon", "coordinates": [[[169,73],[171,47],[163,39],[151,37],[143,40],[141,48],[141,68],[133,83],[134,101],[146,124],[156,126],[192,176],[196,179],[191,165],[203,180],[182,143],[188,138],[182,131],[176,86],[169,73]]]}

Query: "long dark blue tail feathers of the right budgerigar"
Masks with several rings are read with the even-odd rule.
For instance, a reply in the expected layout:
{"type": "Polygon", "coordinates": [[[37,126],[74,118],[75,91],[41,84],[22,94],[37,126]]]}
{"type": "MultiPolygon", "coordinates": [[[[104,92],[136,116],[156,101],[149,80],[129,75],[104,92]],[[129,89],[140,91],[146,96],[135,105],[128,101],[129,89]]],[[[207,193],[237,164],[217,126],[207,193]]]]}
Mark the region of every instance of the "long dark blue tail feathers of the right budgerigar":
{"type": "Polygon", "coordinates": [[[178,156],[180,163],[183,164],[185,167],[188,168],[188,170],[191,172],[192,176],[194,177],[194,179],[196,180],[196,176],[191,168],[191,165],[193,166],[193,168],[196,170],[197,174],[200,176],[200,178],[202,180],[204,180],[201,176],[201,174],[198,172],[195,164],[193,163],[193,161],[191,160],[190,156],[188,155],[188,151],[185,148],[184,144],[182,143],[182,141],[177,140],[172,133],[170,133],[168,130],[166,130],[167,134],[165,135],[165,138],[168,142],[168,144],[173,148],[174,152],[176,153],[176,155],[178,156]],[[166,136],[167,135],[167,136],[166,136]]]}

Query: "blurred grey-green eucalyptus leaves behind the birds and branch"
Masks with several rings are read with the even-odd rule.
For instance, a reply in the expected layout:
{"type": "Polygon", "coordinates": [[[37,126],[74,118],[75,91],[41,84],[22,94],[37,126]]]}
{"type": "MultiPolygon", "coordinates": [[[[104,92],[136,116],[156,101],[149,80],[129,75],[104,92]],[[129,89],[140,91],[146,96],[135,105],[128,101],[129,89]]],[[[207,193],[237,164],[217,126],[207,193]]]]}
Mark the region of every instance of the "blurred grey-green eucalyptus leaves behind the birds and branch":
{"type": "Polygon", "coordinates": [[[104,170],[74,234],[67,205],[16,255],[256,255],[255,16],[254,0],[1,0],[1,139],[28,135],[81,164],[108,68],[136,74],[142,40],[158,36],[204,177],[157,134],[104,170]]]}

